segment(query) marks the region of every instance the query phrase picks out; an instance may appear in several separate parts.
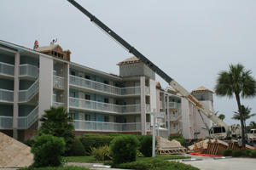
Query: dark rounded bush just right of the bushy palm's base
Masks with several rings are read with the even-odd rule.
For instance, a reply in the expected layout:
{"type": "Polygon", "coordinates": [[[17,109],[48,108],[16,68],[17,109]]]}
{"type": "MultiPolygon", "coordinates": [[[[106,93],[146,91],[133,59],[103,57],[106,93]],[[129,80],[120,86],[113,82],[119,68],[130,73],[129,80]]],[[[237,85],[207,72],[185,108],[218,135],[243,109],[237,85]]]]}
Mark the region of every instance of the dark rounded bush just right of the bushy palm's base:
{"type": "Polygon", "coordinates": [[[66,156],[85,156],[84,145],[80,142],[79,138],[75,138],[71,149],[67,151],[66,156]]]}

